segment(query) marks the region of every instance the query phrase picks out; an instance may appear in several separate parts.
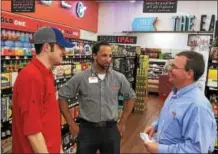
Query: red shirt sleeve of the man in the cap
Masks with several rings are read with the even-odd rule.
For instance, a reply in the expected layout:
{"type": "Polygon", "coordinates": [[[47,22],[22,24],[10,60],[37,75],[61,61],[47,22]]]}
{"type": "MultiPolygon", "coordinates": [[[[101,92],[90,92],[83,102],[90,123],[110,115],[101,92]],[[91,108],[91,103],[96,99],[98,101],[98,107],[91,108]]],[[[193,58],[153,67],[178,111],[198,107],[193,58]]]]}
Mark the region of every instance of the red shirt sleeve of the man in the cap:
{"type": "Polygon", "coordinates": [[[24,135],[42,132],[42,85],[36,79],[26,79],[18,87],[18,100],[24,135]]]}

